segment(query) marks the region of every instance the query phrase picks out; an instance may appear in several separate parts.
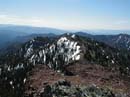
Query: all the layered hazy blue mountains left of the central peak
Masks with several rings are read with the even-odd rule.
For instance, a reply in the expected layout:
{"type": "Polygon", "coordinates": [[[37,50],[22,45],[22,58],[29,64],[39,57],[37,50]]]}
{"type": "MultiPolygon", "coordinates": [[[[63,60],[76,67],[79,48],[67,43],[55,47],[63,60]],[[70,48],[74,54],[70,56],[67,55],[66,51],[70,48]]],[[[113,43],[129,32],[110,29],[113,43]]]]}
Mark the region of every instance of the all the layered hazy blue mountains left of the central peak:
{"type": "MultiPolygon", "coordinates": [[[[2,25],[0,24],[0,49],[7,47],[13,41],[20,41],[20,37],[32,37],[34,35],[53,33],[52,35],[60,35],[66,33],[65,30],[59,30],[47,27],[31,27],[31,26],[17,26],[17,25],[2,25]],[[15,40],[16,39],[16,40],[15,40]]],[[[42,35],[44,36],[44,35],[42,35]]],[[[46,35],[45,35],[46,36],[46,35]]],[[[20,38],[21,39],[21,38],[20,38]]],[[[24,41],[24,40],[23,40],[24,41]]]]}

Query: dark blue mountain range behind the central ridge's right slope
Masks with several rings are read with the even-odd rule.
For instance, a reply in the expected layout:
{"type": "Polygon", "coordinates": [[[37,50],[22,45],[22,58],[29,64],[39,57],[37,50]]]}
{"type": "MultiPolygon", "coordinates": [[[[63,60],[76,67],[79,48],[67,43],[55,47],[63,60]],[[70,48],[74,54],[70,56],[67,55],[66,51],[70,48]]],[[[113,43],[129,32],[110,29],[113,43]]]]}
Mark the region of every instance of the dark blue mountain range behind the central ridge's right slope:
{"type": "Polygon", "coordinates": [[[117,35],[92,35],[85,32],[77,32],[76,35],[91,38],[99,42],[103,42],[111,47],[130,50],[130,35],[117,34],[117,35]]]}

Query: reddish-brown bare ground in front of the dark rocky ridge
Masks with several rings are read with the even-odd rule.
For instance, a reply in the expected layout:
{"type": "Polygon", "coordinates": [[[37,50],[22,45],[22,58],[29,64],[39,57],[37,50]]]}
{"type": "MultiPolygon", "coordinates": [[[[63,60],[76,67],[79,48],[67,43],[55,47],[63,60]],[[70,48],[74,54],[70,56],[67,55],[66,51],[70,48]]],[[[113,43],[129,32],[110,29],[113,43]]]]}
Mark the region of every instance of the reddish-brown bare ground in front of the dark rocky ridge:
{"type": "Polygon", "coordinates": [[[96,85],[107,87],[114,92],[125,92],[130,95],[130,79],[120,76],[118,71],[111,71],[100,65],[70,65],[66,68],[73,73],[72,76],[55,72],[45,65],[37,65],[28,73],[26,94],[39,93],[46,85],[54,84],[58,80],[67,80],[74,85],[96,85]]]}

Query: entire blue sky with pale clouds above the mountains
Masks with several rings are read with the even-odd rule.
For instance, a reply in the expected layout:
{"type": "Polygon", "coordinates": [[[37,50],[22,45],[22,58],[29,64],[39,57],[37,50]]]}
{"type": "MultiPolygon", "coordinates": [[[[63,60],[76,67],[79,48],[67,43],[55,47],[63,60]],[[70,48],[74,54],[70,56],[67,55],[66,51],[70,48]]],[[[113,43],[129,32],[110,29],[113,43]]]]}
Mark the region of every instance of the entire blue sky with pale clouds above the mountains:
{"type": "Polygon", "coordinates": [[[0,24],[130,30],[130,0],[0,0],[0,24]]]}

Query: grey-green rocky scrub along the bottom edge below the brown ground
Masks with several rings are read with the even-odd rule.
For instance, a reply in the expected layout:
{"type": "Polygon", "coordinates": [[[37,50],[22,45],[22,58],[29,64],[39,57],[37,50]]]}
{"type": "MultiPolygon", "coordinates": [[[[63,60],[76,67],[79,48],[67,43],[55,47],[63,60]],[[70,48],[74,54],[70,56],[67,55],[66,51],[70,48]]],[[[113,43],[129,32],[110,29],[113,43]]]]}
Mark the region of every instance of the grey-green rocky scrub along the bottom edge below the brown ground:
{"type": "Polygon", "coordinates": [[[40,97],[128,97],[125,94],[115,94],[111,90],[92,86],[74,86],[65,80],[54,85],[47,85],[40,97]]]}

